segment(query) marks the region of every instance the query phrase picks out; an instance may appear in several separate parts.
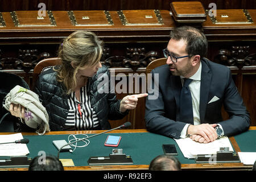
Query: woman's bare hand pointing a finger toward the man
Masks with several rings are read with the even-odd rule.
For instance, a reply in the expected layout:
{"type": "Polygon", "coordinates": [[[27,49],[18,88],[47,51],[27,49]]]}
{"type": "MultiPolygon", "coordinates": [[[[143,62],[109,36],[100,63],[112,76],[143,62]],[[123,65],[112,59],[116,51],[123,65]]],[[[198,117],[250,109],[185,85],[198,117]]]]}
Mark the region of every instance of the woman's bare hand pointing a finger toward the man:
{"type": "Polygon", "coordinates": [[[120,111],[124,113],[127,109],[135,109],[137,106],[138,98],[146,96],[148,96],[147,93],[142,93],[123,97],[120,104],[120,111]]]}

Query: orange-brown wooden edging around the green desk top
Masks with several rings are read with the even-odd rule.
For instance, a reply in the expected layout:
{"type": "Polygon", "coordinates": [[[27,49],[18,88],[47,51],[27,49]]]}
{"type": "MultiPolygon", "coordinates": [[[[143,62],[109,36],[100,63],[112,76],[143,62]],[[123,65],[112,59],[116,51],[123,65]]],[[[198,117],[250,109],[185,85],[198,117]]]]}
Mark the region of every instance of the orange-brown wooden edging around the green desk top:
{"type": "MultiPolygon", "coordinates": [[[[256,127],[250,127],[250,130],[256,130],[256,127]]],[[[46,133],[46,135],[69,135],[69,134],[97,134],[101,133],[102,130],[98,131],[51,131],[46,133]]],[[[115,130],[110,133],[148,133],[146,130],[115,130]]],[[[11,133],[1,133],[1,134],[11,134],[11,133]]],[[[34,133],[22,133],[24,135],[36,135],[34,133]]],[[[230,137],[230,142],[233,144],[234,150],[240,152],[240,146],[236,142],[234,137],[230,137]]],[[[30,148],[29,148],[30,149],[30,148]]],[[[80,150],[77,148],[76,150],[80,150]]],[[[159,154],[160,155],[160,154],[159,154]]],[[[181,154],[179,154],[181,155],[181,154]]],[[[60,157],[61,158],[61,157],[60,157]]],[[[217,163],[217,164],[181,164],[181,169],[183,170],[250,170],[252,166],[245,166],[242,163],[217,163]]],[[[147,170],[148,165],[99,165],[99,166],[75,166],[75,167],[64,167],[65,170],[147,170]]],[[[1,170],[10,171],[27,171],[27,168],[1,168],[1,170]]]]}

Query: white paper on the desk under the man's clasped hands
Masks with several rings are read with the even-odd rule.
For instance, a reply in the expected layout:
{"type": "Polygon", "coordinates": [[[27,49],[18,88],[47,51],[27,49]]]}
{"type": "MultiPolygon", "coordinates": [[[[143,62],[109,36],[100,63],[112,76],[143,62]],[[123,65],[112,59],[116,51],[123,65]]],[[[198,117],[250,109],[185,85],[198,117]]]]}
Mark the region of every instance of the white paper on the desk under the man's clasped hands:
{"type": "Polygon", "coordinates": [[[194,159],[199,154],[217,154],[220,147],[229,147],[229,151],[234,151],[228,137],[221,137],[210,143],[199,143],[193,141],[191,138],[175,139],[181,152],[185,158],[194,159]]]}

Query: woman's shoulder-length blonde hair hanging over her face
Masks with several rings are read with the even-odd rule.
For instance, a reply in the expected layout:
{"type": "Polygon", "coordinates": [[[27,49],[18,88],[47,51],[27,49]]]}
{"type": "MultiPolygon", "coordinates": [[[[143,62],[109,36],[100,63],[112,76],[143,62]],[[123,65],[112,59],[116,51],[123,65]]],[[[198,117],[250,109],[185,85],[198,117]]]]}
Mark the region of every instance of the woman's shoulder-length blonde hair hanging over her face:
{"type": "Polygon", "coordinates": [[[102,46],[103,42],[90,31],[76,31],[63,40],[58,51],[61,66],[55,71],[57,71],[57,81],[63,82],[67,94],[72,93],[76,88],[77,71],[85,67],[93,67],[101,60],[102,46]]]}

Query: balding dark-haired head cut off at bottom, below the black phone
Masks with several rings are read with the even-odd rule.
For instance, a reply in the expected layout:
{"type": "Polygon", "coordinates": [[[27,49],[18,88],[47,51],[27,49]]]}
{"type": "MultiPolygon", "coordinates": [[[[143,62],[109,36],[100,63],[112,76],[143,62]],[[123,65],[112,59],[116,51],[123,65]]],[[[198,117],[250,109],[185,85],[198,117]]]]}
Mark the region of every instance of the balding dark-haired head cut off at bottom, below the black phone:
{"type": "Polygon", "coordinates": [[[181,164],[175,156],[159,155],[154,158],[149,166],[150,171],[180,171],[181,164]]]}

